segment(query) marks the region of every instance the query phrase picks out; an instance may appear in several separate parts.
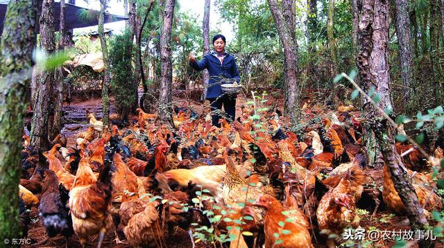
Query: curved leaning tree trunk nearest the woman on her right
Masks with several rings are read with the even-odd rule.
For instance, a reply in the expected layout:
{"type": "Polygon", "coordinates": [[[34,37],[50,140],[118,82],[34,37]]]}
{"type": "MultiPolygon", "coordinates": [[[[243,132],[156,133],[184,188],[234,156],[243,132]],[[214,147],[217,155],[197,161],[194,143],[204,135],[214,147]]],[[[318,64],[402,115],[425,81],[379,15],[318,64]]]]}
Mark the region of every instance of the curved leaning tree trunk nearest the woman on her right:
{"type": "Polygon", "coordinates": [[[282,46],[284,46],[284,71],[286,75],[285,112],[289,115],[291,125],[297,123],[300,116],[300,96],[298,85],[298,43],[292,31],[282,15],[282,10],[278,6],[277,0],[268,0],[271,14],[275,20],[276,28],[282,46]]]}

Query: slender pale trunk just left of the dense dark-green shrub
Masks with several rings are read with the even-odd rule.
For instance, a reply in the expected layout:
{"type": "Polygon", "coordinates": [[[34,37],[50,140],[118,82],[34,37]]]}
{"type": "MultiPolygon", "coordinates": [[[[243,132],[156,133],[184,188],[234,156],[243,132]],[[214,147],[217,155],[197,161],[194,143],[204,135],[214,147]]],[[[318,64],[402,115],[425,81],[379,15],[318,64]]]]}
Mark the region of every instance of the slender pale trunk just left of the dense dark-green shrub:
{"type": "Polygon", "coordinates": [[[107,0],[100,0],[100,12],[99,12],[99,39],[102,46],[103,66],[105,70],[103,73],[103,85],[102,85],[102,112],[103,112],[103,126],[108,126],[110,123],[110,67],[108,60],[108,45],[106,44],[105,33],[103,32],[104,14],[106,10],[107,0]]]}

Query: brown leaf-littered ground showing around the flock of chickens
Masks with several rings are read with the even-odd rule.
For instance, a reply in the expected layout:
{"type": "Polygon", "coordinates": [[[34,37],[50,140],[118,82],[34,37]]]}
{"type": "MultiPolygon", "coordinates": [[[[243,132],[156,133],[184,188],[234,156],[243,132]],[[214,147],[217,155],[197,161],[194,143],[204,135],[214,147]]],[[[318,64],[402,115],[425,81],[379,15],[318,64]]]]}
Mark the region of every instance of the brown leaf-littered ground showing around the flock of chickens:
{"type": "MultiPolygon", "coordinates": [[[[310,99],[311,97],[314,97],[314,94],[311,94],[311,92],[308,95],[309,97],[306,97],[305,101],[316,100],[316,99],[310,99]]],[[[323,94],[317,94],[317,96],[321,99],[323,94]]],[[[325,98],[323,100],[325,100],[325,98]]],[[[241,105],[246,103],[246,101],[247,98],[245,96],[239,96],[237,98],[237,116],[241,116],[241,105]]],[[[111,98],[111,103],[110,103],[111,114],[115,112],[113,103],[114,103],[114,98],[111,98]]],[[[176,99],[175,103],[179,107],[189,106],[195,112],[207,113],[209,111],[207,107],[199,105],[196,102],[176,99]]],[[[282,98],[278,99],[278,104],[276,104],[276,106],[279,107],[281,111],[283,111],[282,98]]],[[[89,109],[90,112],[96,114],[98,119],[101,119],[102,118],[101,98],[90,97],[86,100],[75,99],[69,106],[65,105],[63,107],[63,111],[65,113],[64,113],[64,123],[63,123],[64,127],[62,129],[62,134],[67,137],[67,147],[75,146],[77,133],[87,130],[88,126],[85,118],[85,109],[89,109]]],[[[323,114],[325,114],[325,112],[323,114]]],[[[132,120],[133,117],[135,116],[130,116],[129,119],[132,120]]],[[[386,209],[384,209],[384,204],[382,201],[377,213],[375,214],[375,216],[373,216],[373,218],[371,217],[371,211],[373,210],[368,209],[368,211],[362,211],[360,215],[361,218],[360,227],[365,229],[366,231],[369,229],[377,229],[379,231],[410,229],[407,216],[394,215],[393,213],[386,211],[386,209]]],[[[44,240],[44,238],[47,237],[44,227],[39,221],[38,210],[34,206],[32,207],[30,212],[30,218],[31,218],[31,224],[29,224],[28,238],[31,239],[31,246],[25,245],[24,247],[36,247],[33,244],[40,242],[41,240],[44,240]]],[[[123,232],[121,232],[121,237],[123,237],[123,232]]],[[[114,236],[114,227],[113,227],[107,233],[105,233],[105,238],[103,240],[103,247],[130,247],[130,245],[126,244],[116,245],[114,238],[115,236],[114,236]]],[[[312,241],[315,247],[326,247],[325,238],[319,236],[318,234],[316,235],[316,238],[314,238],[312,241]]],[[[99,242],[99,235],[92,236],[89,238],[87,247],[96,247],[98,242],[99,242]]],[[[69,238],[68,244],[69,244],[68,247],[81,247],[80,242],[78,241],[78,237],[76,235],[71,236],[69,238]]],[[[177,248],[191,247],[189,234],[187,233],[187,231],[183,231],[182,229],[176,229],[176,231],[174,231],[172,235],[169,235],[168,231],[165,230],[164,245],[166,245],[165,247],[177,247],[177,248]]],[[[357,245],[357,243],[355,243],[355,245],[357,245]]],[[[393,240],[378,240],[376,242],[364,241],[361,242],[361,245],[362,245],[361,247],[393,247],[393,245],[395,245],[395,242],[393,240]]],[[[37,247],[65,247],[65,238],[62,236],[49,238],[49,240],[47,240],[43,245],[37,247]]],[[[208,244],[205,245],[203,244],[203,242],[198,242],[196,244],[196,247],[213,247],[213,246],[208,244]]],[[[411,244],[409,244],[408,247],[418,247],[418,245],[412,242],[411,244]]],[[[443,246],[441,245],[441,247],[443,246]]]]}

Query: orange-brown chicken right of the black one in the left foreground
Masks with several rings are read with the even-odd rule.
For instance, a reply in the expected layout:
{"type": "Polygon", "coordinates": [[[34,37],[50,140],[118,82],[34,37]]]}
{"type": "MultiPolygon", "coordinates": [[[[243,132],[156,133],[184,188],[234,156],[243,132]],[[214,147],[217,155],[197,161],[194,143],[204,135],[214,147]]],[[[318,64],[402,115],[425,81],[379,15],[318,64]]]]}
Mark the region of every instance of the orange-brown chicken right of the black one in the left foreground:
{"type": "MultiPolygon", "coordinates": [[[[109,154],[107,156],[110,157],[109,154]]],[[[89,236],[99,233],[101,247],[105,232],[112,226],[109,213],[112,196],[110,170],[109,159],[96,179],[86,159],[79,163],[73,188],[69,192],[69,209],[74,231],[83,246],[89,236]]]]}

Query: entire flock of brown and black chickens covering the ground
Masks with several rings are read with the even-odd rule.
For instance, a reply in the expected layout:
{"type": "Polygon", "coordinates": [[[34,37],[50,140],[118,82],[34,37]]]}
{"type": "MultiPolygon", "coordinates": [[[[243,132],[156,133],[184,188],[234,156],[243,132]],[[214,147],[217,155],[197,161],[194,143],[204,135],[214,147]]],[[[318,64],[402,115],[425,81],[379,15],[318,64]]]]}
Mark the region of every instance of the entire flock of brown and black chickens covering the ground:
{"type": "MultiPolygon", "coordinates": [[[[155,124],[155,114],[137,109],[129,127],[102,130],[87,112],[89,129],[78,133],[76,148],[66,148],[59,135],[41,154],[25,136],[19,185],[24,233],[25,209],[38,206],[49,237],[75,234],[83,246],[99,234],[101,247],[112,227],[117,243],[126,239],[133,247],[164,247],[164,231],[171,235],[179,227],[189,231],[194,246],[193,229],[206,226],[230,237],[230,247],[323,242],[314,236],[325,236],[334,247],[345,228],[358,227],[357,206],[376,213],[383,203],[404,211],[386,166],[366,166],[362,119],[340,110],[308,125],[300,139],[275,112],[251,118],[253,105],[242,107],[234,123],[222,118],[221,127],[176,108],[174,128],[155,124]]],[[[305,110],[307,117],[314,112],[305,110]]],[[[406,154],[420,204],[443,209],[426,174],[427,160],[409,145],[396,147],[406,154]]],[[[430,152],[443,156],[438,145],[430,152]]]]}

